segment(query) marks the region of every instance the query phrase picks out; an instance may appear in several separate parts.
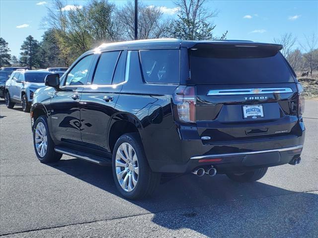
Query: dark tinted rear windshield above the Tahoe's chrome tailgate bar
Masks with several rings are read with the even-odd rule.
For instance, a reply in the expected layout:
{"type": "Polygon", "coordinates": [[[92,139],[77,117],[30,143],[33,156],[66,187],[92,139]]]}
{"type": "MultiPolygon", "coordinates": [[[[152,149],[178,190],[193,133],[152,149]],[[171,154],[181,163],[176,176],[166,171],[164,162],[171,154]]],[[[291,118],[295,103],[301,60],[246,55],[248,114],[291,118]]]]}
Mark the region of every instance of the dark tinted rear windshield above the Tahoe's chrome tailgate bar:
{"type": "Polygon", "coordinates": [[[190,50],[190,69],[193,84],[295,82],[283,56],[272,52],[190,50]]]}

